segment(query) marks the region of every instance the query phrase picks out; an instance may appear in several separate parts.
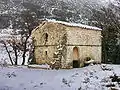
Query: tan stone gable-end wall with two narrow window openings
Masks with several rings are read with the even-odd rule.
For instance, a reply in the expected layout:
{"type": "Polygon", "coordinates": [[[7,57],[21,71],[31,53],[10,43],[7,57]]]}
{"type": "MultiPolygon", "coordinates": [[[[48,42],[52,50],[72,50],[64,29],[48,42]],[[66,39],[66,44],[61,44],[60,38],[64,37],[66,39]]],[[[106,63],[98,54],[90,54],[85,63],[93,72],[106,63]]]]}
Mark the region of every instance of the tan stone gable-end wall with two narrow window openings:
{"type": "MultiPolygon", "coordinates": [[[[36,30],[32,32],[32,37],[35,41],[35,59],[36,62],[41,64],[54,61],[54,53],[57,52],[58,45],[63,41],[66,34],[65,26],[54,23],[42,23],[36,30]],[[48,40],[45,42],[44,34],[48,34],[48,40]],[[47,55],[46,55],[47,52],[47,55]]],[[[64,43],[66,44],[66,43],[64,43]]],[[[65,61],[66,52],[63,53],[65,61]]]]}

